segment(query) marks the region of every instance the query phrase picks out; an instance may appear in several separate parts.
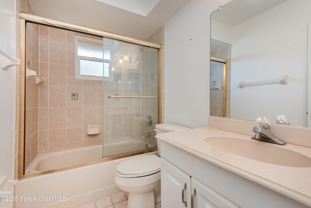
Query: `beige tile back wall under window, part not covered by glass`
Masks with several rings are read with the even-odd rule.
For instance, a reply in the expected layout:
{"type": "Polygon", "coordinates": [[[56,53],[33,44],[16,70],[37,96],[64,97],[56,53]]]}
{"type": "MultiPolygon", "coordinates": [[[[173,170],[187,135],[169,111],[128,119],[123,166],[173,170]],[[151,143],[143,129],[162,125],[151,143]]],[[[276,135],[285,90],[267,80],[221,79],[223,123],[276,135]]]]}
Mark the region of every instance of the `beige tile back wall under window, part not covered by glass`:
{"type": "Polygon", "coordinates": [[[38,152],[102,144],[103,82],[74,79],[71,31],[40,25],[38,152]],[[72,93],[78,100],[72,100],[72,93]],[[100,134],[88,135],[87,126],[100,134]]]}

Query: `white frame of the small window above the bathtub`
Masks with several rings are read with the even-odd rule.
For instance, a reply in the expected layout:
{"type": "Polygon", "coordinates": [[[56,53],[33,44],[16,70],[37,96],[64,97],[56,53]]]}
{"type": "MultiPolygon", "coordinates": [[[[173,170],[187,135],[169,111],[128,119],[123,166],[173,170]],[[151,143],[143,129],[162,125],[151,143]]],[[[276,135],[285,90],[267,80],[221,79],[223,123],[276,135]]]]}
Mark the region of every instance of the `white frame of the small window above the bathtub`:
{"type": "MultiPolygon", "coordinates": [[[[109,77],[105,76],[104,81],[114,81],[114,73],[113,73],[113,71],[111,71],[111,69],[112,69],[112,66],[111,66],[112,56],[110,57],[110,60],[109,59],[102,59],[102,58],[95,58],[95,57],[78,56],[78,40],[98,43],[104,47],[103,39],[96,39],[96,38],[89,38],[89,37],[74,35],[74,78],[75,79],[103,81],[103,76],[92,76],[92,75],[81,75],[80,74],[80,60],[83,59],[83,60],[103,62],[103,67],[104,67],[104,62],[109,63],[109,77]]],[[[112,42],[108,43],[108,45],[110,45],[111,46],[110,48],[112,48],[112,42]]],[[[112,51],[110,51],[110,55],[112,55],[112,51]]]]}

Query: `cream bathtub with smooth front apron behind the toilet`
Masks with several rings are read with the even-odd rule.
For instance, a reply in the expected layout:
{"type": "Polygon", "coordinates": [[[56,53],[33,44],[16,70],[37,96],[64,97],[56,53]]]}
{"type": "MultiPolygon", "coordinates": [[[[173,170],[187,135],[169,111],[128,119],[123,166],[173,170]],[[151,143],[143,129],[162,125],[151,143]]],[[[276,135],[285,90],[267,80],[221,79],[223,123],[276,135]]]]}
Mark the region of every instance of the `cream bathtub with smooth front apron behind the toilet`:
{"type": "MultiPolygon", "coordinates": [[[[128,143],[123,142],[122,144],[127,145],[128,143]]],[[[112,145],[114,149],[117,146],[117,144],[110,145],[112,145]]],[[[119,146],[120,145],[121,144],[119,143],[119,146]]],[[[143,145],[145,146],[146,143],[144,142],[143,145]]],[[[152,147],[152,144],[148,145],[152,147]]],[[[86,156],[82,155],[83,151],[91,152],[87,158],[91,158],[91,155],[96,155],[95,159],[101,159],[101,149],[102,145],[97,145],[70,151],[59,151],[50,154],[45,153],[39,155],[38,158],[35,158],[36,162],[35,160],[33,161],[35,162],[35,165],[33,164],[34,170],[30,170],[30,167],[27,170],[30,171],[30,173],[34,173],[33,171],[40,172],[52,168],[60,168],[60,166],[64,166],[65,164],[67,166],[76,163],[85,163],[86,156]],[[64,155],[67,155],[67,157],[70,157],[70,159],[66,158],[66,160],[64,160],[64,155]],[[71,157],[74,158],[74,160],[72,160],[71,157]],[[62,159],[59,160],[59,158],[62,159]],[[43,165],[44,160],[51,160],[53,163],[56,161],[57,164],[53,164],[48,167],[43,165]]],[[[140,155],[146,154],[157,155],[157,151],[140,155]]],[[[140,155],[125,157],[107,162],[94,163],[88,166],[80,166],[70,170],[52,172],[50,174],[38,175],[35,177],[28,177],[28,175],[25,175],[24,179],[20,180],[16,186],[16,195],[18,196],[16,207],[73,208],[91,201],[95,201],[105,196],[118,193],[121,190],[114,182],[116,167],[121,162],[140,155]],[[22,201],[22,199],[25,199],[25,201],[22,201]]]]}

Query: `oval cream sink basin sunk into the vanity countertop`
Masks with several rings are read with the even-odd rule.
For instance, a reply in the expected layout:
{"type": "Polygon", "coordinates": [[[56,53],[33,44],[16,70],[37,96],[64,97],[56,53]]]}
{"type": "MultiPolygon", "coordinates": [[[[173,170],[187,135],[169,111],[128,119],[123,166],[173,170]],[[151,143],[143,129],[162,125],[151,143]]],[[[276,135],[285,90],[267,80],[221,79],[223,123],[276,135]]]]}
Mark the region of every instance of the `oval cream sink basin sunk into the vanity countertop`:
{"type": "Polygon", "coordinates": [[[299,168],[311,167],[310,157],[276,144],[223,136],[207,137],[205,142],[222,151],[264,163],[299,168]]]}

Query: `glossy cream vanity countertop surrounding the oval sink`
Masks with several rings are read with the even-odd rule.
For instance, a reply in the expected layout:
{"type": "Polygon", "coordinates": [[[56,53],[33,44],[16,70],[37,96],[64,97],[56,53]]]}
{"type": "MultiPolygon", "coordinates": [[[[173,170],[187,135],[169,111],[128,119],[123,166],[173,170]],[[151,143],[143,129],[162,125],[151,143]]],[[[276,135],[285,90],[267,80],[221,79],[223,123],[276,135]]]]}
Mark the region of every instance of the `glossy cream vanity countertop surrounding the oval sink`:
{"type": "MultiPolygon", "coordinates": [[[[251,139],[249,135],[211,127],[162,133],[156,135],[156,138],[311,207],[311,167],[274,165],[228,153],[205,142],[210,136],[236,137],[261,142],[251,139]]],[[[281,147],[311,158],[311,148],[289,143],[281,147]]]]}

